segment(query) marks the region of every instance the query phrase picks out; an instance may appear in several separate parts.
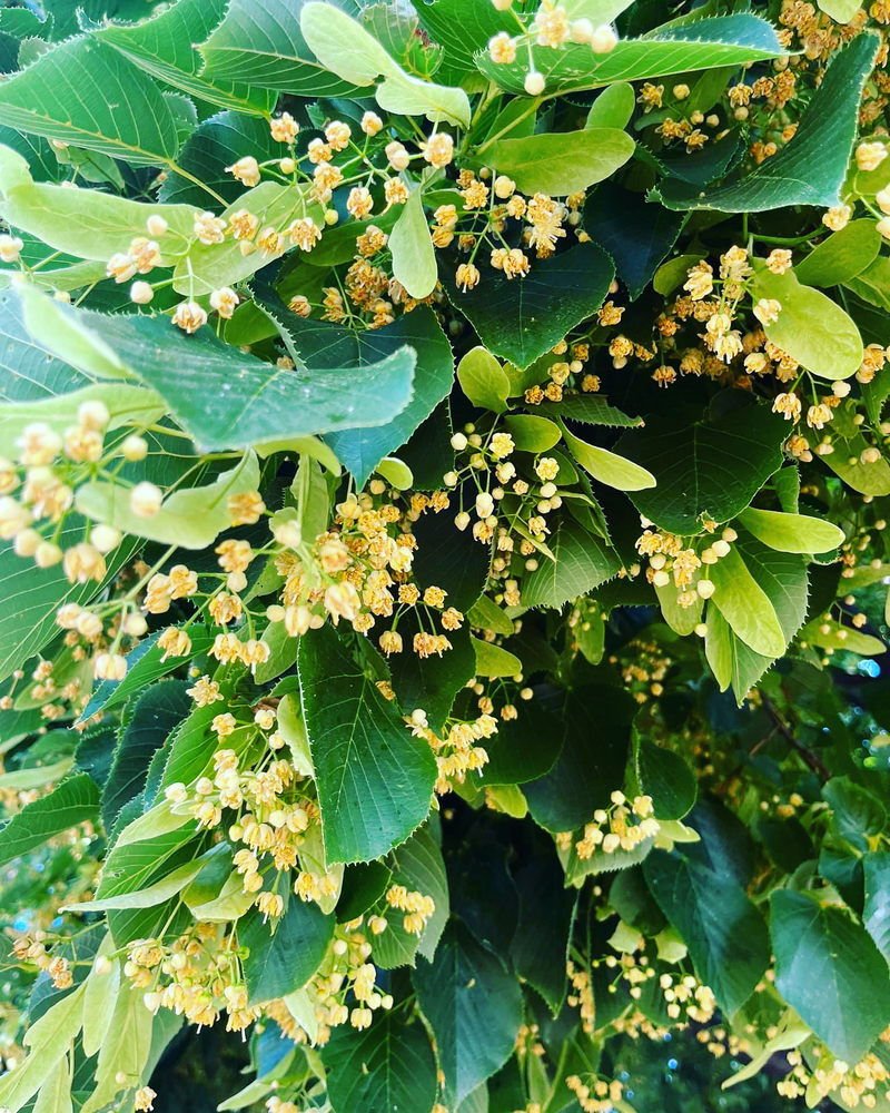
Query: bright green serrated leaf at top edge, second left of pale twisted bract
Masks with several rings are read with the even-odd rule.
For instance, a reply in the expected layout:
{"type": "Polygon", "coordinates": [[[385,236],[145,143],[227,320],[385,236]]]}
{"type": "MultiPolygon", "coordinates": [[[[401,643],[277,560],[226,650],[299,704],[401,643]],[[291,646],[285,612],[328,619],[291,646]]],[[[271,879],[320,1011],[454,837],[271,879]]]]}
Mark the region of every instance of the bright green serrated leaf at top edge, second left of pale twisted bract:
{"type": "Polygon", "coordinates": [[[267,115],[276,101],[269,90],[230,81],[216,82],[200,76],[204,59],[197,43],[204,42],[217,27],[227,7],[226,0],[179,0],[169,8],[156,9],[135,26],[111,23],[93,37],[110,43],[152,77],[191,97],[221,108],[267,115]]]}

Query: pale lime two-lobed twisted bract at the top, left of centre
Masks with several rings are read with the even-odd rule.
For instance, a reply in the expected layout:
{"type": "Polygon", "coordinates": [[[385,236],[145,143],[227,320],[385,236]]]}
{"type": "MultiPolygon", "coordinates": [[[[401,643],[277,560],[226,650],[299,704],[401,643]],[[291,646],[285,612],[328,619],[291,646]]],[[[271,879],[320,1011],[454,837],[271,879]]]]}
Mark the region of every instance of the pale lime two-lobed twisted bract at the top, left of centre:
{"type": "Polygon", "coordinates": [[[463,89],[423,81],[406,73],[360,23],[328,3],[305,3],[300,30],[309,49],[327,69],[357,86],[377,85],[377,104],[387,112],[469,126],[469,100],[463,89]]]}

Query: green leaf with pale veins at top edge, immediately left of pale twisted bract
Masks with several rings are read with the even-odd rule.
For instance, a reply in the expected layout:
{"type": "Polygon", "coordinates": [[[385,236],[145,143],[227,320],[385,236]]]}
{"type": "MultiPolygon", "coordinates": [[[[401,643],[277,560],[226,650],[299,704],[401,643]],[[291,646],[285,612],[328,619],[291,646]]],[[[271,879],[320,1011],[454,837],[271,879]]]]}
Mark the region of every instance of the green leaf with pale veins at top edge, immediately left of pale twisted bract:
{"type": "Polygon", "coordinates": [[[200,52],[205,81],[246,81],[299,97],[343,97],[356,87],[320,66],[299,27],[305,0],[233,0],[200,52]]]}

